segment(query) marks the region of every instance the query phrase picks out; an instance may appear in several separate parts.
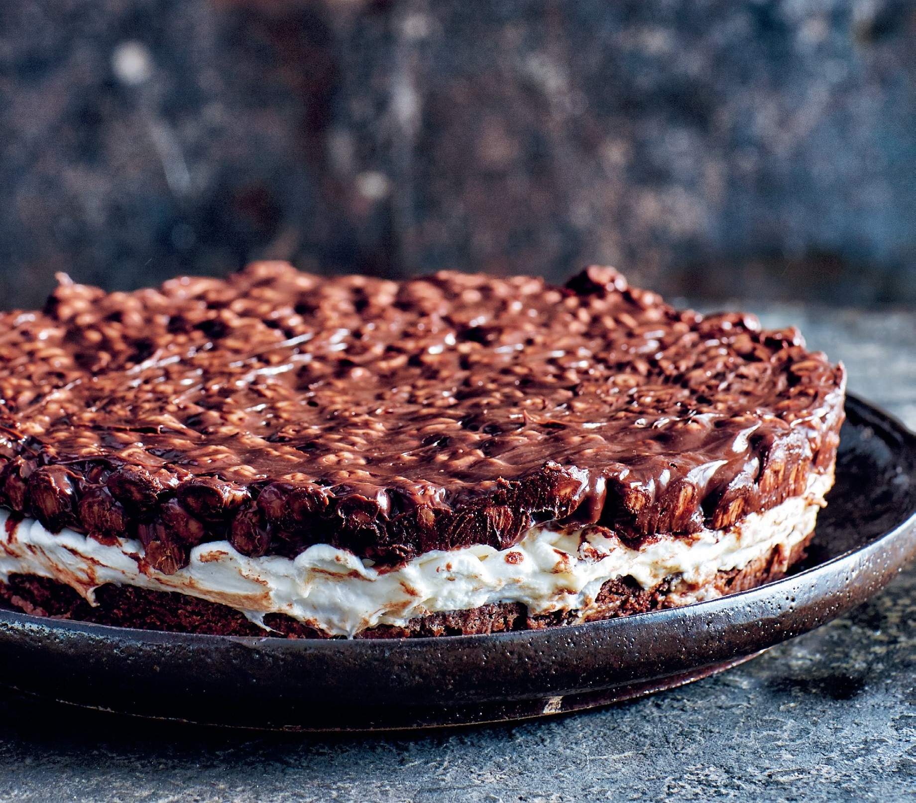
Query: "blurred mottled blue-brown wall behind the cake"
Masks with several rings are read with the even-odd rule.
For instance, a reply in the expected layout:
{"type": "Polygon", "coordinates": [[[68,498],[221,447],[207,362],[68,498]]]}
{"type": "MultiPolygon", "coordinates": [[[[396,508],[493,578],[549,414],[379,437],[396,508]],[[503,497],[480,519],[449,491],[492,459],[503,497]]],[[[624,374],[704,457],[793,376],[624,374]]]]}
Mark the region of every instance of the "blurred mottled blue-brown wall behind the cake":
{"type": "Polygon", "coordinates": [[[911,0],[0,4],[0,290],[246,259],[916,302],[911,0]]]}

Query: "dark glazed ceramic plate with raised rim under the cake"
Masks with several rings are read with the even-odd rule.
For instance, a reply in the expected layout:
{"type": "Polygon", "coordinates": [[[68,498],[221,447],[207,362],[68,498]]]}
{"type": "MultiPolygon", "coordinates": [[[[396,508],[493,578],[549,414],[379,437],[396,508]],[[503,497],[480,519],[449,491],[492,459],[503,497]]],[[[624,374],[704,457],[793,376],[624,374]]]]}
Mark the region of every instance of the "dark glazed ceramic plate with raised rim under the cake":
{"type": "Polygon", "coordinates": [[[916,435],[846,403],[805,563],[671,611],[486,636],[312,641],[154,633],[0,611],[0,683],[147,717],[283,730],[511,720],[711,675],[829,622],[916,556],[916,435]]]}

